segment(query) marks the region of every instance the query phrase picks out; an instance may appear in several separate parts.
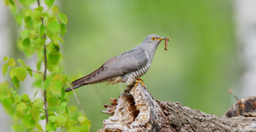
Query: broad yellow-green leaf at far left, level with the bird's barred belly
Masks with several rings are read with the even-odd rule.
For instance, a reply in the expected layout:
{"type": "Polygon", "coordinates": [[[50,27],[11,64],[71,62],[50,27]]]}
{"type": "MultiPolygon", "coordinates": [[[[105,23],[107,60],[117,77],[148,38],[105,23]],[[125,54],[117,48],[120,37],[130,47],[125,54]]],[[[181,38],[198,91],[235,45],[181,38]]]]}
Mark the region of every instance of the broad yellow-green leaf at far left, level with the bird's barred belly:
{"type": "Polygon", "coordinates": [[[23,82],[26,78],[26,68],[23,68],[23,67],[12,68],[9,74],[11,78],[16,76],[19,79],[19,81],[23,82]]]}

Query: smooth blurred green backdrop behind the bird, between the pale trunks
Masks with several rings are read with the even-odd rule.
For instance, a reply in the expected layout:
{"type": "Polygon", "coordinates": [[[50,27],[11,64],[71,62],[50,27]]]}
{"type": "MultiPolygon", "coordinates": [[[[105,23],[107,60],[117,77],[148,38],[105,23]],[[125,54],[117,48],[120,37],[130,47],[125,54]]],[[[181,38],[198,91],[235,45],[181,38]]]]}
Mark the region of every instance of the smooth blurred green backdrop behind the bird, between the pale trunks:
{"type": "MultiPolygon", "coordinates": [[[[237,41],[232,1],[58,1],[68,17],[61,46],[64,71],[72,79],[86,76],[109,58],[139,45],[149,34],[162,42],[150,70],[142,77],[158,100],[180,102],[207,114],[222,116],[234,103],[227,88],[237,86],[237,41]]],[[[109,98],[118,98],[124,84],[86,85],[76,90],[92,121],[102,128],[109,98]]],[[[72,92],[70,106],[78,105],[72,92]]]]}

